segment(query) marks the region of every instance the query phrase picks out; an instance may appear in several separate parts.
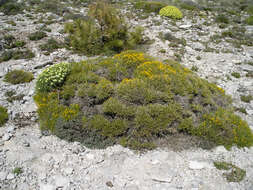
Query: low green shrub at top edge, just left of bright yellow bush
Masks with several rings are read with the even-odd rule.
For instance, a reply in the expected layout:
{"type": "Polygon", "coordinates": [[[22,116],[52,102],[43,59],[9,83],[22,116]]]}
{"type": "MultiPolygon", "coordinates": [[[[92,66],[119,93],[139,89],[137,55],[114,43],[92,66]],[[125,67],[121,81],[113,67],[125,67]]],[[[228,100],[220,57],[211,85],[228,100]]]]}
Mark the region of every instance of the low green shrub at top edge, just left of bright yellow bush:
{"type": "Polygon", "coordinates": [[[157,1],[138,1],[134,4],[136,9],[143,9],[145,12],[159,13],[160,9],[165,7],[166,4],[157,1]]]}

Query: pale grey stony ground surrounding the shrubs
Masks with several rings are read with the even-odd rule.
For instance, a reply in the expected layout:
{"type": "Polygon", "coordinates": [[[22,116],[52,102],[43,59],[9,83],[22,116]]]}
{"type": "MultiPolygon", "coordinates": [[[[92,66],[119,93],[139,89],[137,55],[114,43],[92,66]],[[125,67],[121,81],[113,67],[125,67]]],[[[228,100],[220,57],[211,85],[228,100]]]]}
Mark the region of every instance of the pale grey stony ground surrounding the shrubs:
{"type": "MultiPolygon", "coordinates": [[[[127,6],[124,11],[131,12],[131,4],[127,6]]],[[[87,8],[80,7],[80,10],[85,13],[87,8]]],[[[233,147],[227,151],[219,146],[211,150],[156,149],[137,153],[113,146],[105,150],[90,150],[78,143],[41,134],[32,98],[36,81],[11,85],[3,81],[4,75],[13,69],[23,69],[33,72],[36,78],[50,64],[80,61],[87,57],[73,54],[65,48],[44,55],[40,44],[50,37],[64,40],[63,18],[48,13],[47,16],[54,18],[54,22],[47,26],[51,29],[47,32],[48,37],[29,41],[27,36],[46,24],[34,23],[45,14],[29,12],[33,19],[25,16],[27,14],[6,16],[0,13],[0,35],[8,33],[25,40],[26,47],[35,53],[30,60],[0,63],[0,105],[8,108],[10,115],[9,121],[0,128],[0,189],[253,189],[253,148],[233,147]],[[8,24],[8,21],[14,21],[16,26],[8,24]],[[10,90],[24,94],[23,99],[8,102],[5,93],[10,90]],[[246,170],[246,177],[238,183],[227,182],[224,171],[216,169],[214,161],[231,162],[246,170]]],[[[130,17],[133,16],[135,14],[130,17]]],[[[151,14],[145,19],[131,19],[131,24],[145,27],[146,36],[154,40],[145,49],[150,55],[181,59],[181,64],[195,70],[200,77],[224,88],[232,96],[234,106],[246,111],[238,111],[237,114],[253,129],[253,101],[243,102],[240,99],[242,95],[253,95],[253,64],[250,64],[253,62],[253,47],[242,45],[235,48],[223,39],[219,44],[213,43],[210,36],[225,29],[220,29],[217,24],[203,24],[212,20],[212,15],[194,18],[193,21],[186,16],[181,21],[171,22],[151,14]],[[169,46],[170,42],[163,39],[166,33],[172,33],[178,39],[184,38],[186,44],[179,43],[176,48],[169,46]],[[207,45],[214,51],[206,51],[207,45]],[[234,72],[240,77],[233,77],[231,74],[234,72]]],[[[253,35],[252,26],[246,26],[245,35],[253,35]]]]}

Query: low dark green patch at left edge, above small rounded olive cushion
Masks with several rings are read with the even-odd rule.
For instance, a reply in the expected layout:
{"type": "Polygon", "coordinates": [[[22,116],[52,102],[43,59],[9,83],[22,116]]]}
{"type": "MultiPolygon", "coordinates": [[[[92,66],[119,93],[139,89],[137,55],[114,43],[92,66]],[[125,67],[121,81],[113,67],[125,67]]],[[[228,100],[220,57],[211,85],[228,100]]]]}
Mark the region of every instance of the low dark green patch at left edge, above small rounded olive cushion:
{"type": "Polygon", "coordinates": [[[29,49],[4,51],[0,56],[0,63],[10,59],[31,59],[34,56],[34,53],[29,49]]]}

